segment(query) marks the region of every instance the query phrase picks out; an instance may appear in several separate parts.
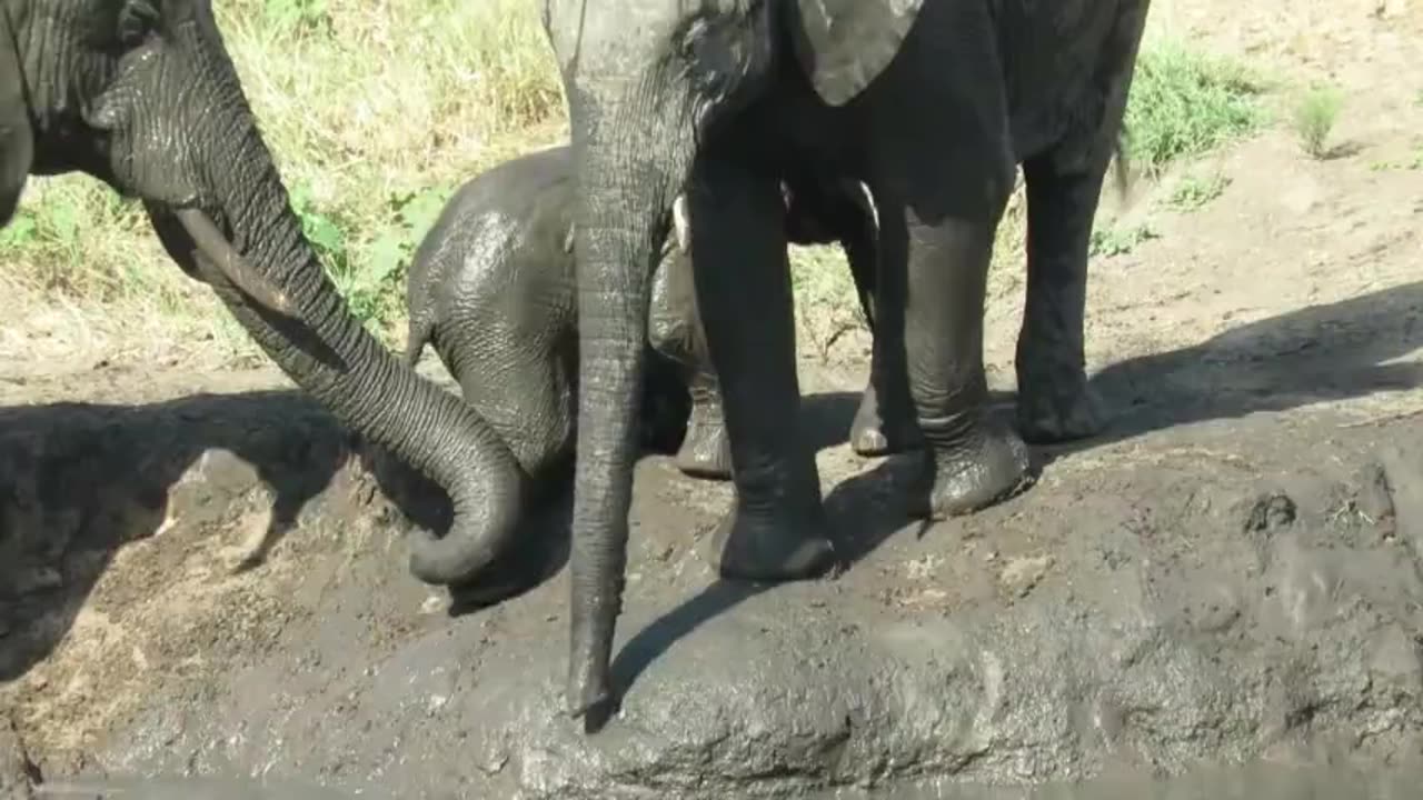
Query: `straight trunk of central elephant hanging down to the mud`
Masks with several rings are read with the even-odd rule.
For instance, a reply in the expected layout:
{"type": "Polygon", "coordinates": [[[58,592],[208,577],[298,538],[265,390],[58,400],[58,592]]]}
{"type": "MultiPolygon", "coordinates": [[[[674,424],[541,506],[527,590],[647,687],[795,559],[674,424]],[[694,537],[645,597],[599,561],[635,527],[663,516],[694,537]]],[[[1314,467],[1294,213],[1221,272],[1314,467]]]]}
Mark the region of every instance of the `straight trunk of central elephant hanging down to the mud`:
{"type": "MultiPolygon", "coordinates": [[[[605,117],[612,122],[606,131],[628,137],[638,130],[619,127],[618,117],[605,117]]],[[[565,700],[571,715],[582,716],[612,700],[609,662],[628,558],[649,292],[669,232],[672,199],[689,171],[683,165],[690,159],[692,138],[666,137],[657,145],[605,141],[581,124],[576,104],[573,120],[581,356],[565,700]],[[679,154],[687,158],[679,161],[679,154]]]]}

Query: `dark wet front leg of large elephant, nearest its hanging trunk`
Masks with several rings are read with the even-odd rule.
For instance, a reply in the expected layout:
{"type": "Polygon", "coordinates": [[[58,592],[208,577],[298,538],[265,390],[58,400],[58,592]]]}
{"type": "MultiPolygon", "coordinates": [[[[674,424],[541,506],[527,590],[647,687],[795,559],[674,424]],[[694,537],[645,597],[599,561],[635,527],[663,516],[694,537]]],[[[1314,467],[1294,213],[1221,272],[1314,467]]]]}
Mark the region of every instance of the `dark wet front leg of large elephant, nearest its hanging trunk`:
{"type": "Polygon", "coordinates": [[[771,169],[703,152],[687,194],[692,262],[721,383],[736,505],[713,535],[724,578],[791,581],[831,568],[820,475],[798,424],[784,204],[771,169]]]}

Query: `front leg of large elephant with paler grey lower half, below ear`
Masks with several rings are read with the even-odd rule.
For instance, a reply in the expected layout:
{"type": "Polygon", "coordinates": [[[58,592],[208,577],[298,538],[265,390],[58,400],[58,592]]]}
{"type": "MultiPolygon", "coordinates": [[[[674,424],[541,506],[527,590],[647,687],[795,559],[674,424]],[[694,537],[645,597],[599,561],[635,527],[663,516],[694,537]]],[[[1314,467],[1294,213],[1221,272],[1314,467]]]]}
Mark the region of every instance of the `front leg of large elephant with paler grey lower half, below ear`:
{"type": "Polygon", "coordinates": [[[1027,446],[990,413],[983,374],[988,268],[1015,177],[989,11],[925,3],[865,110],[881,268],[908,269],[904,357],[932,475],[926,508],[916,511],[935,518],[973,512],[1032,483],[1027,446]]]}

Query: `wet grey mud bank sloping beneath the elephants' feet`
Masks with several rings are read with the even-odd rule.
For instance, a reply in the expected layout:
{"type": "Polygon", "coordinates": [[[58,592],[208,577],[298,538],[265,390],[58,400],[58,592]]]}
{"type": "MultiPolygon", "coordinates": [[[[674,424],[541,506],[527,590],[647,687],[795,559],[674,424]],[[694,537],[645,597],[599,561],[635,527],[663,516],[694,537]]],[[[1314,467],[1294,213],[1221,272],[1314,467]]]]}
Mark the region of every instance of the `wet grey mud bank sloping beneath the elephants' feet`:
{"type": "MultiPolygon", "coordinates": [[[[852,400],[807,417],[848,423],[852,400]]],[[[1027,494],[924,530],[902,463],[847,475],[827,447],[857,562],[771,589],[706,567],[726,487],[649,457],[626,698],[592,737],[559,712],[561,555],[536,589],[450,614],[404,567],[401,508],[428,510],[307,401],[46,406],[0,430],[0,698],[46,781],[753,797],[1423,754],[1410,417],[1255,414],[1046,454],[1027,494]]]]}

